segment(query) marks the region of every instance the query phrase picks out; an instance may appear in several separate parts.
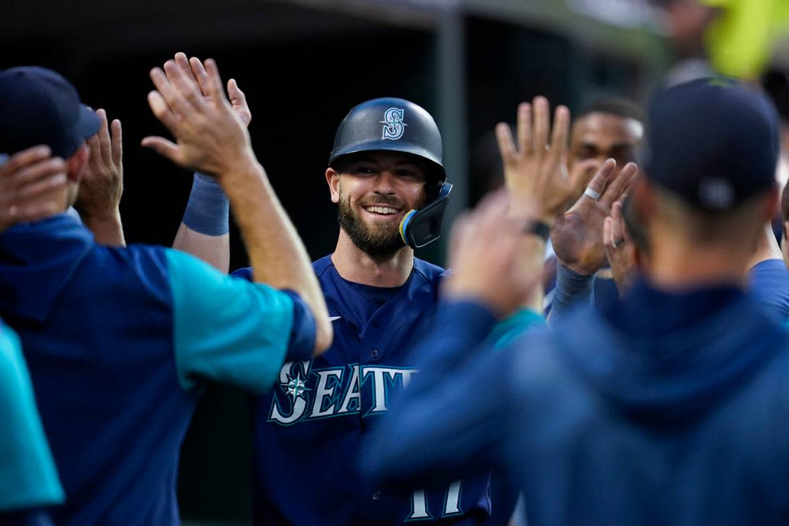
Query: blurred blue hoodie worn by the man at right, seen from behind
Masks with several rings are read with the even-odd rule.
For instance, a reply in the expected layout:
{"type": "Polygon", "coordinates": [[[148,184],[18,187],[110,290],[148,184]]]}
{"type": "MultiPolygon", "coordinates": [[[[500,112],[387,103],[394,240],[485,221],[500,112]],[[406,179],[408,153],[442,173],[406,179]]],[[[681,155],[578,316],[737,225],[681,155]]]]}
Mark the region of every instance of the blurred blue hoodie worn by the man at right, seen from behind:
{"type": "Polygon", "coordinates": [[[512,473],[531,526],[786,524],[789,341],[742,292],[645,282],[495,353],[492,315],[450,304],[367,470],[398,486],[488,462],[512,473]],[[423,371],[430,371],[424,368],[423,371]]]}

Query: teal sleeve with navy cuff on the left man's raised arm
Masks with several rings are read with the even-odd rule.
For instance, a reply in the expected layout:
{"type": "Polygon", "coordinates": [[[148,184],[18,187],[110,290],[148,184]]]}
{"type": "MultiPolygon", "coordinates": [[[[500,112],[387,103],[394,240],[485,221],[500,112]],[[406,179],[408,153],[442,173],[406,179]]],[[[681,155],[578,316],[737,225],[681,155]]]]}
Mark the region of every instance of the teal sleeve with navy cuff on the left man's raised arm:
{"type": "Polygon", "coordinates": [[[305,360],[315,319],[294,292],[219,273],[183,252],[166,252],[174,349],[181,386],[206,381],[266,392],[286,359],[305,360]]]}

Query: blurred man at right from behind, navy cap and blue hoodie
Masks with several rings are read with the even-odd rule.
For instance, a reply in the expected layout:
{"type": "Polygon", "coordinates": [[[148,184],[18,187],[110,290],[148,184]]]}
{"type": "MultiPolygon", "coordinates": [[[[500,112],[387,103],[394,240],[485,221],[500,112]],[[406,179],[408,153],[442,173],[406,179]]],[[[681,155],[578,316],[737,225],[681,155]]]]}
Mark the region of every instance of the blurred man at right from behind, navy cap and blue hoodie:
{"type": "MultiPolygon", "coordinates": [[[[765,99],[733,80],[658,95],[633,195],[649,234],[644,279],[505,356],[481,335],[528,279],[456,282],[422,350],[458,370],[413,380],[371,442],[372,472],[408,484],[497,461],[517,473],[537,526],[783,524],[789,341],[744,293],[777,204],[776,126],[765,99]]],[[[489,215],[457,259],[479,259],[488,230],[515,235],[489,215]]]]}

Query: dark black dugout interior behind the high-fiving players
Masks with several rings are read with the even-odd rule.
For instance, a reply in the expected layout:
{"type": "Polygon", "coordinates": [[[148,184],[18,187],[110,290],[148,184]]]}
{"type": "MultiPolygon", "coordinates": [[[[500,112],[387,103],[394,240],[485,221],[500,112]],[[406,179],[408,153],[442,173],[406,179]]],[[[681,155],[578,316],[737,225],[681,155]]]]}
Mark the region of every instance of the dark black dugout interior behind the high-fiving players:
{"type": "MultiPolygon", "coordinates": [[[[436,116],[449,180],[458,185],[454,214],[499,180],[492,129],[514,120],[518,102],[543,94],[577,109],[601,91],[645,95],[650,82],[649,68],[626,53],[507,17],[452,15],[451,31],[462,38],[447,43],[439,28],[450,15],[431,4],[460,2],[367,2],[408,8],[381,12],[354,7],[364,3],[12,0],[0,21],[0,68],[55,69],[76,84],[84,103],[122,121],[126,240],[170,245],[192,177],[139,146],[144,136],[167,136],[148,108],[148,71],[179,50],[215,58],[223,80],[235,78],[247,95],[256,154],[313,259],[335,245],[336,211],[323,173],[335,128],[353,105],[398,96],[436,116]],[[459,68],[454,81],[442,77],[447,53],[459,68]],[[447,112],[447,97],[459,97],[457,114],[447,112]]],[[[231,235],[231,269],[246,266],[234,227],[231,235]]],[[[435,245],[418,256],[443,264],[444,245],[435,245]]],[[[245,394],[210,387],[181,454],[185,520],[249,521],[249,433],[245,394]]]]}

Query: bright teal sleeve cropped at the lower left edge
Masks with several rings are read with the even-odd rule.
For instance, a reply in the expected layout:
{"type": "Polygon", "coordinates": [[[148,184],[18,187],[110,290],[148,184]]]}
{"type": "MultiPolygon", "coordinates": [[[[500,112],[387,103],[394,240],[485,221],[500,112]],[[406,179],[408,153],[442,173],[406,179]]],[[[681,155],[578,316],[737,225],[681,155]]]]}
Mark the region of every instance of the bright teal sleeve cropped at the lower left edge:
{"type": "Polygon", "coordinates": [[[19,338],[0,323],[0,512],[63,502],[19,338]]]}

